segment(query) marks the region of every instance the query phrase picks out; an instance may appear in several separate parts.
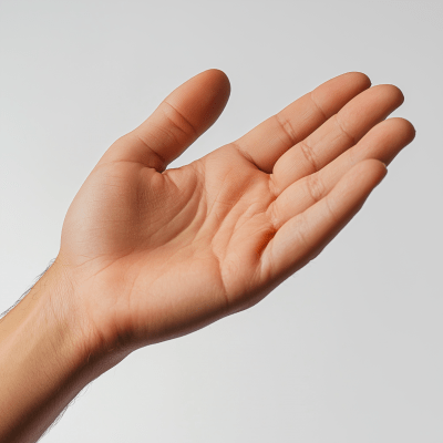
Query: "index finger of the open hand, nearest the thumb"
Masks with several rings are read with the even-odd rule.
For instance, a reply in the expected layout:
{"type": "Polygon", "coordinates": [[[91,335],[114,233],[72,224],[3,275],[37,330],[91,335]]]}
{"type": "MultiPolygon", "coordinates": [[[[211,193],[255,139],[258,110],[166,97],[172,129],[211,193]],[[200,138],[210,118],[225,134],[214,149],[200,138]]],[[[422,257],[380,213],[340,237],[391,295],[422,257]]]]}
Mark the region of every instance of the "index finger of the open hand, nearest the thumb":
{"type": "Polygon", "coordinates": [[[371,81],[360,72],[336,76],[265,120],[234,145],[259,169],[270,173],[287,150],[370,85],[371,81]]]}

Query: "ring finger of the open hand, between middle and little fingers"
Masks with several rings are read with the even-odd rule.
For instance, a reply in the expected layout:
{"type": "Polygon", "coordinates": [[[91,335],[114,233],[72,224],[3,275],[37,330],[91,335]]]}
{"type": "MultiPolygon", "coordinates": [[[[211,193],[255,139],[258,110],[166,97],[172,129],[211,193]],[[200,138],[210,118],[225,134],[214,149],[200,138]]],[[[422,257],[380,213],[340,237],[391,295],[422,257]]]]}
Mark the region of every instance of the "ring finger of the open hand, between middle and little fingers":
{"type": "Polygon", "coordinates": [[[388,165],[414,136],[414,127],[404,119],[379,123],[356,146],[318,173],[292,183],[276,198],[268,209],[276,227],[321,200],[357,163],[373,158],[388,165]]]}

